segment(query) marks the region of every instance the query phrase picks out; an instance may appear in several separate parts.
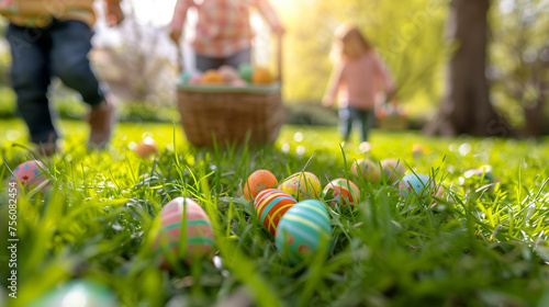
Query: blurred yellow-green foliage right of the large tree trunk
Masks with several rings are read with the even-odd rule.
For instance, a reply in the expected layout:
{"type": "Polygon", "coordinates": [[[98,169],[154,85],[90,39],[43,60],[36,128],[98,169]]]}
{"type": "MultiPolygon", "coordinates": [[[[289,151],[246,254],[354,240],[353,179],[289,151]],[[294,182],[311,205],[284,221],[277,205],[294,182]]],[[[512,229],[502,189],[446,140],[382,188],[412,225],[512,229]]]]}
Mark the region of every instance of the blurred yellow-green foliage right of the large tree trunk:
{"type": "Polygon", "coordinates": [[[523,135],[549,134],[549,1],[501,0],[490,13],[494,105],[523,135]]]}

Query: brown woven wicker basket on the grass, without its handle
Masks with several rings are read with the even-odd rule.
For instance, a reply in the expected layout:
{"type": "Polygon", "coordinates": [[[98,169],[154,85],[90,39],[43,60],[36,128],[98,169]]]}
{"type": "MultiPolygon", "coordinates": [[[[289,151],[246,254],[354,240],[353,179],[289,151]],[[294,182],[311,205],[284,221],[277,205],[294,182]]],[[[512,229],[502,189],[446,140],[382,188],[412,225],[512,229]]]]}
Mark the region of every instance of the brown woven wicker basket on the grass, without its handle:
{"type": "Polygon", "coordinates": [[[272,144],[284,124],[280,84],[269,87],[178,86],[178,109],[189,143],[197,147],[272,144]]]}

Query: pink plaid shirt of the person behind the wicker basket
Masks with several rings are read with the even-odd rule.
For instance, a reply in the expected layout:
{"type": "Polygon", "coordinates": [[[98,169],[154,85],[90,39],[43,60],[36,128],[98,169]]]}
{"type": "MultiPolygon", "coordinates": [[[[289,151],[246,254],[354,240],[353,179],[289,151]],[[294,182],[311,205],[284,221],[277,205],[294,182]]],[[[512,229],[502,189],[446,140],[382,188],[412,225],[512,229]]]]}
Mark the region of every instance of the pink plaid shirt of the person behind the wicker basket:
{"type": "Polygon", "coordinates": [[[277,13],[267,0],[178,0],[171,29],[181,29],[187,11],[198,11],[194,50],[204,56],[227,57],[251,46],[253,32],[249,10],[255,8],[267,20],[271,29],[280,26],[277,13]]]}

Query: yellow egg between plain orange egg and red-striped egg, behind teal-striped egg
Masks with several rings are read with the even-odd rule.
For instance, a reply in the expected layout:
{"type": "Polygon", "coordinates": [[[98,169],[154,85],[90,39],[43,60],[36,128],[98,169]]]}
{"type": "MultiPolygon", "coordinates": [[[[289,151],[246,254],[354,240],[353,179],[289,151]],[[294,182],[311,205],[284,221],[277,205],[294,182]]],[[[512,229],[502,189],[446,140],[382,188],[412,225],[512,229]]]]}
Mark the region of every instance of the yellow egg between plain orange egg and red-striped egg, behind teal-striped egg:
{"type": "Polygon", "coordinates": [[[285,179],[278,189],[298,201],[316,198],[321,195],[321,181],[311,172],[294,173],[285,179]]]}

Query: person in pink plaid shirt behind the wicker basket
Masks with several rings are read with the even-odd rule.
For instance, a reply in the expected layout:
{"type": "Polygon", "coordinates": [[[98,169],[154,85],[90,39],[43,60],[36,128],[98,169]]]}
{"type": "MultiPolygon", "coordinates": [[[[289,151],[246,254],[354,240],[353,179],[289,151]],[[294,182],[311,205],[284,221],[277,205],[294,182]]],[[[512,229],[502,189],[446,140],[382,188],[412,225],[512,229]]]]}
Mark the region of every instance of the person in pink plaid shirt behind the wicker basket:
{"type": "Polygon", "coordinates": [[[190,8],[198,11],[197,35],[192,44],[197,68],[201,71],[250,62],[253,32],[249,11],[255,8],[278,36],[284,33],[277,13],[267,0],[178,0],[170,24],[170,37],[178,44],[190,8]]]}

